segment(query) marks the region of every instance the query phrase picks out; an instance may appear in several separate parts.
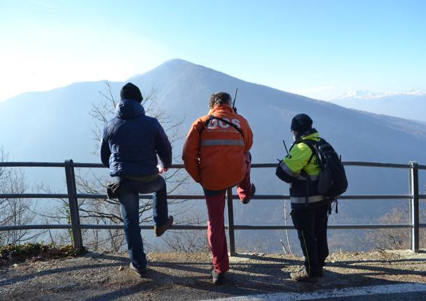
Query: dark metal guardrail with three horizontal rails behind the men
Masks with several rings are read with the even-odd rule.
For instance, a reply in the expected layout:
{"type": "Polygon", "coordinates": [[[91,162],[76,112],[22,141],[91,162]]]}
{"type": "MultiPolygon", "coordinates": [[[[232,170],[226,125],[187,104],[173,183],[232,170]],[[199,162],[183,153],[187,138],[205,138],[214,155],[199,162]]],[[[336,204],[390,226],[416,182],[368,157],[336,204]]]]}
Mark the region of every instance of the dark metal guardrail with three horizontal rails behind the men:
{"type": "MultiPolygon", "coordinates": [[[[374,162],[344,162],[345,166],[364,166],[364,167],[379,167],[379,168],[404,168],[409,170],[409,194],[401,195],[362,195],[362,196],[341,196],[341,200],[410,200],[410,221],[409,223],[392,223],[392,224],[350,224],[350,225],[329,225],[330,229],[389,229],[389,228],[408,228],[411,229],[410,241],[411,249],[414,252],[419,251],[419,229],[426,228],[426,223],[420,223],[419,216],[419,200],[426,200],[426,195],[419,194],[418,170],[426,170],[426,166],[418,165],[417,162],[411,161],[409,164],[397,163],[374,163],[374,162]]],[[[276,163],[257,163],[252,164],[251,168],[275,168],[276,163]]],[[[0,162],[1,167],[54,167],[64,168],[66,175],[67,193],[3,193],[0,198],[68,198],[70,209],[71,224],[38,224],[38,225],[15,225],[15,226],[0,226],[1,230],[35,230],[35,229],[72,229],[73,243],[78,249],[82,249],[82,234],[81,229],[121,229],[123,225],[92,225],[80,223],[80,214],[78,209],[78,199],[82,198],[107,198],[104,194],[88,194],[77,193],[75,184],[74,168],[105,168],[98,163],[74,163],[72,160],[66,160],[64,163],[50,162],[0,162]]],[[[184,168],[182,164],[172,165],[172,168],[184,168]]],[[[149,195],[140,195],[140,199],[150,199],[149,195]]],[[[204,200],[204,196],[200,195],[170,195],[168,199],[191,199],[204,200]]],[[[251,225],[235,225],[233,214],[233,200],[237,200],[238,196],[232,194],[232,189],[228,189],[226,193],[228,205],[228,225],[225,228],[228,230],[230,242],[230,254],[235,254],[235,230],[285,230],[294,229],[294,226],[283,225],[267,225],[267,226],[251,226],[251,225]]],[[[256,195],[254,200],[288,200],[290,196],[286,195],[256,195]]],[[[142,229],[152,229],[152,226],[140,226],[142,229]]],[[[207,226],[198,225],[174,225],[174,230],[203,230],[207,226]]]]}

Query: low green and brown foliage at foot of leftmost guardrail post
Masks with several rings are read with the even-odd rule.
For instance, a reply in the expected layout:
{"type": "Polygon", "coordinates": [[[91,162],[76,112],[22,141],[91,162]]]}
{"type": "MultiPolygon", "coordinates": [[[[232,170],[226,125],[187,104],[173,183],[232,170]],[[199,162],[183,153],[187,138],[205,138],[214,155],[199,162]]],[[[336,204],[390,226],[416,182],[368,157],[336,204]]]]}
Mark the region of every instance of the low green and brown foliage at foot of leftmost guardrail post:
{"type": "Polygon", "coordinates": [[[57,246],[55,244],[44,244],[43,242],[25,243],[25,244],[8,244],[0,247],[0,259],[23,260],[35,256],[41,258],[64,258],[75,257],[86,252],[85,249],[79,250],[71,244],[57,246]]]}

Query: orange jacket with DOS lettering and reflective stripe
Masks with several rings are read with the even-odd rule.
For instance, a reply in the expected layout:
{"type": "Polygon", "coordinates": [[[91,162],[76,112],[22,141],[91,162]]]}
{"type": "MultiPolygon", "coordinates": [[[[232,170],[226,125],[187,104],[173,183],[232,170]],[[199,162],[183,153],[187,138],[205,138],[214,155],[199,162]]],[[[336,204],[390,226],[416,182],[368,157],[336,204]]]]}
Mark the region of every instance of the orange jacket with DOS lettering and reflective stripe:
{"type": "Polygon", "coordinates": [[[246,154],[252,144],[253,133],[247,120],[237,115],[229,105],[218,105],[208,115],[193,122],[186,137],[182,160],[189,175],[205,189],[226,189],[244,178],[246,154]],[[210,115],[235,124],[243,135],[217,119],[205,126],[210,115]]]}

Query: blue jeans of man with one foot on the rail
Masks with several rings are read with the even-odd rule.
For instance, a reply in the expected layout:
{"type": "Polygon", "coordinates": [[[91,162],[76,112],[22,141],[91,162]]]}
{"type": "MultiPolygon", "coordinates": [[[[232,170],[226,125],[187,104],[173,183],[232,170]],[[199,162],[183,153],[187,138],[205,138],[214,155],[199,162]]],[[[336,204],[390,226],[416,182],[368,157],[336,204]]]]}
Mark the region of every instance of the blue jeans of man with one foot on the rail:
{"type": "Polygon", "coordinates": [[[124,221],[128,255],[136,268],[143,269],[147,266],[147,258],[140,235],[139,193],[153,193],[154,224],[166,225],[168,220],[166,181],[161,176],[148,183],[126,178],[119,178],[119,180],[122,181],[122,185],[117,194],[124,221]]]}

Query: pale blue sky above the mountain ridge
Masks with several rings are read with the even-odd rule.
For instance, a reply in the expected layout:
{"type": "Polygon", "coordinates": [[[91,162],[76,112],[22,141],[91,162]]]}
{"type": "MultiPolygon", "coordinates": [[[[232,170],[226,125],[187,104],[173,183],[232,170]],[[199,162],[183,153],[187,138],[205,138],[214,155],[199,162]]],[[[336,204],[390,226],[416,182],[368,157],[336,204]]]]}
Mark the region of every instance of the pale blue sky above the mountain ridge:
{"type": "Polygon", "coordinates": [[[0,101],[173,58],[330,99],[426,90],[426,1],[0,1],[0,101]]]}

